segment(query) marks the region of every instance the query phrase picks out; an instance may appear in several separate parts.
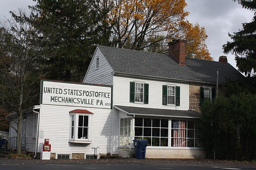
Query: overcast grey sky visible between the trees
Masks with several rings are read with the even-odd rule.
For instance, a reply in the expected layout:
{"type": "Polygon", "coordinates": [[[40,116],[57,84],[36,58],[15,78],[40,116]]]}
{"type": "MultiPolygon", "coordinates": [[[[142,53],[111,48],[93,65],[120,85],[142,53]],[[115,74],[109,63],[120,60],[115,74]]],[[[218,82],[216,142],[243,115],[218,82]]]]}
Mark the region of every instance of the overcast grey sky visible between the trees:
{"type": "MultiPolygon", "coordinates": [[[[242,29],[242,23],[251,22],[253,12],[243,9],[241,5],[232,0],[186,0],[189,13],[188,21],[200,26],[204,26],[208,38],[206,45],[215,61],[219,60],[222,53],[222,45],[231,41],[228,33],[233,33],[242,29]]],[[[17,7],[34,5],[32,0],[0,0],[0,21],[5,15],[9,17],[9,11],[17,7]]],[[[234,55],[226,55],[228,63],[236,68],[234,55]]]]}

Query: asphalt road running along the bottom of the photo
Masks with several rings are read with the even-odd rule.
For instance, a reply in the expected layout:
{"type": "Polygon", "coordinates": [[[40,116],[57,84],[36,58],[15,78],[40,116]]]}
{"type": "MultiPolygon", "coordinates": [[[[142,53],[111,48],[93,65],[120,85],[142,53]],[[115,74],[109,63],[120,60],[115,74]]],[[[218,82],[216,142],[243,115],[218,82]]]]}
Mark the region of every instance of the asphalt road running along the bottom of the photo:
{"type": "Polygon", "coordinates": [[[222,170],[222,169],[256,169],[255,163],[219,161],[211,159],[5,159],[0,158],[0,170],[38,169],[189,169],[189,170],[222,170]]]}

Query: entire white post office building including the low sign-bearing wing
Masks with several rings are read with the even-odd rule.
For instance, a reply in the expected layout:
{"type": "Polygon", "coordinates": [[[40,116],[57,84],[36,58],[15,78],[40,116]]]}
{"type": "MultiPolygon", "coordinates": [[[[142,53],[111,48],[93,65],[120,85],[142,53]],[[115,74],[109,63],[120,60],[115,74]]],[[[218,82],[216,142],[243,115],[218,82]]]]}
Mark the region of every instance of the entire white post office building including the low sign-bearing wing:
{"type": "Polygon", "coordinates": [[[95,148],[127,157],[132,140],[145,139],[146,158],[204,158],[200,103],[243,75],[225,56],[185,58],[185,46],[174,41],[169,54],[97,46],[83,83],[42,80],[40,105],[23,111],[24,148],[40,153],[49,139],[51,159],[90,159],[95,148]]]}

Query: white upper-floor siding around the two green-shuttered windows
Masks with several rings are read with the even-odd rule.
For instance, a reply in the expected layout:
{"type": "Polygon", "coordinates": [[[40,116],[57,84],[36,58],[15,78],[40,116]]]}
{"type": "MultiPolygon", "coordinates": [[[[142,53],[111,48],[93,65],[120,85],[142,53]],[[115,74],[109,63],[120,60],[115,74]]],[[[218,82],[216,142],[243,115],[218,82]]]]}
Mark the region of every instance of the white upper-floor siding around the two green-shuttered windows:
{"type": "Polygon", "coordinates": [[[189,109],[189,84],[114,76],[113,105],[172,109],[172,110],[188,110],[189,109]],[[143,82],[143,83],[149,84],[148,104],[130,102],[130,82],[131,81],[143,82]],[[166,84],[180,86],[180,106],[162,105],[162,93],[163,93],[162,87],[163,85],[166,85],[166,84]]]}

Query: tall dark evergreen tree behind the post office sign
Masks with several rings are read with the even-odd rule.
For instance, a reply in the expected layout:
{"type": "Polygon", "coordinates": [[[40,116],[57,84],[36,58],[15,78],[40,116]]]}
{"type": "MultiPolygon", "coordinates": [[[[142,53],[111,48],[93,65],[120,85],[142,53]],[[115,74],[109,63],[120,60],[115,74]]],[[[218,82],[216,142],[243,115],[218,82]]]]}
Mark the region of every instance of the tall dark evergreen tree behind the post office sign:
{"type": "MultiPolygon", "coordinates": [[[[38,20],[47,27],[43,33],[54,30],[52,47],[56,55],[46,59],[51,71],[47,78],[80,82],[84,78],[96,45],[107,45],[108,10],[96,1],[34,0],[31,6],[38,20]]],[[[41,26],[38,27],[39,29],[41,26]]]]}

